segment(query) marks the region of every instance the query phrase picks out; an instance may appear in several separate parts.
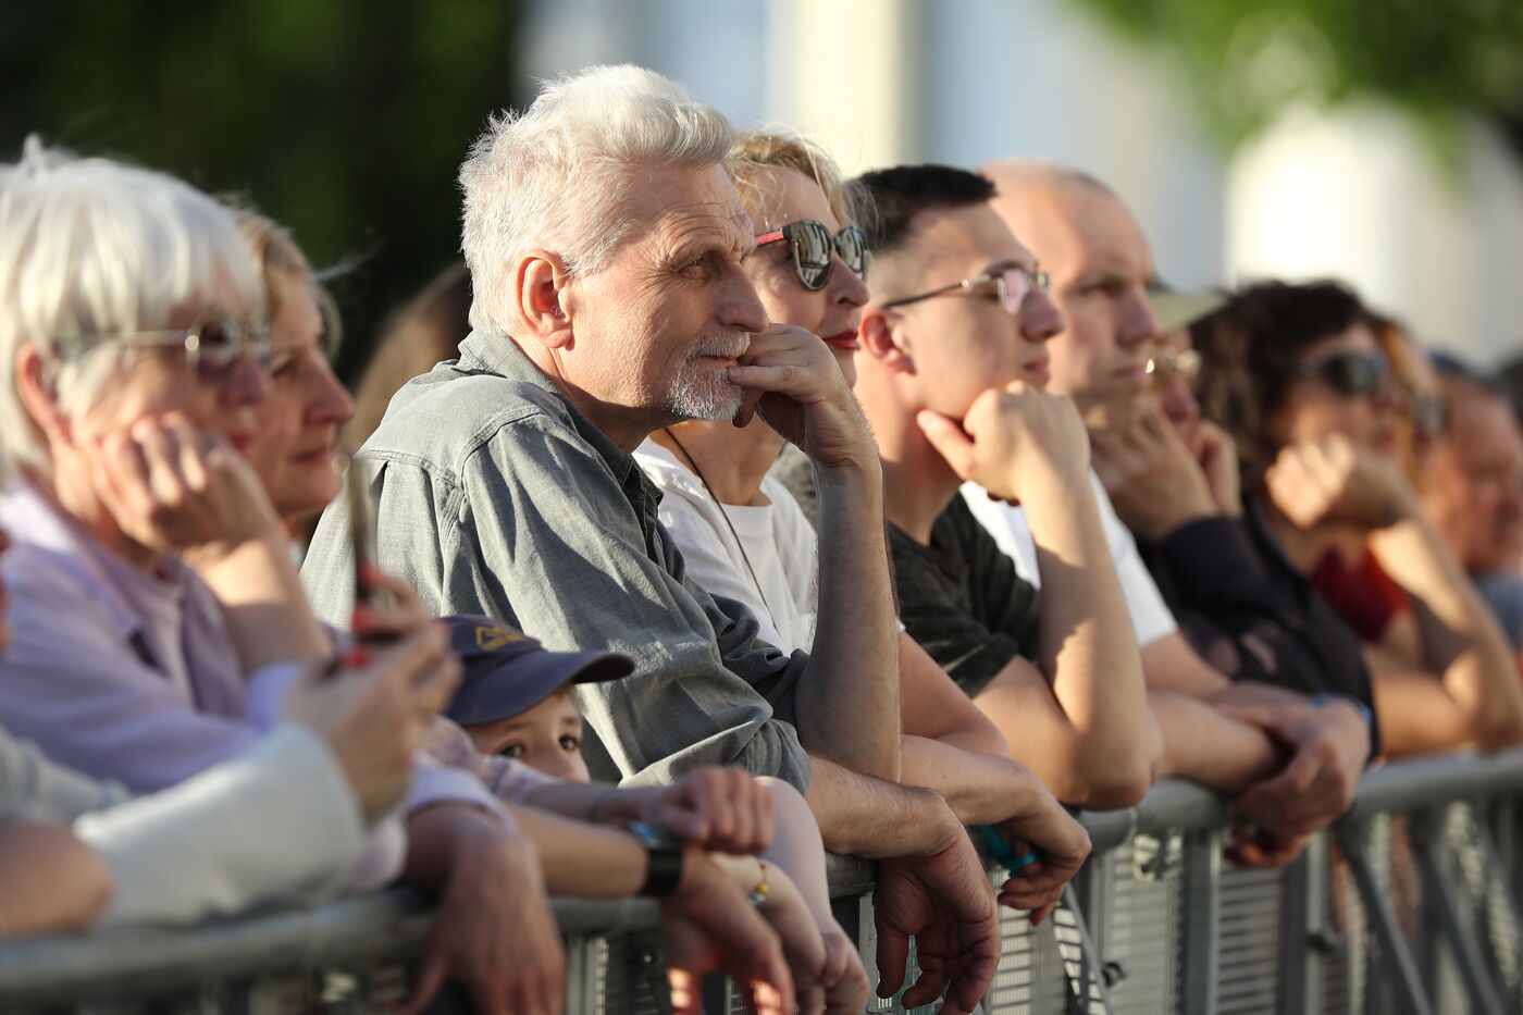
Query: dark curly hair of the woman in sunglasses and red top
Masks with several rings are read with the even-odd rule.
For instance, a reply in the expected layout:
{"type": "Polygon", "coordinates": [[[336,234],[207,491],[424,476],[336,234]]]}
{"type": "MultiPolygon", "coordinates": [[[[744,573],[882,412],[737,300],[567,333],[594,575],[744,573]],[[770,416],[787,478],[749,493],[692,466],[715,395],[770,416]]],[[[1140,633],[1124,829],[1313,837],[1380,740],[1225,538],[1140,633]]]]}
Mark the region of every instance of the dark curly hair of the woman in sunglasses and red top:
{"type": "Polygon", "coordinates": [[[1189,326],[1200,354],[1200,411],[1237,440],[1244,489],[1260,489],[1279,453],[1269,419],[1284,404],[1302,357],[1365,322],[1365,303],[1342,282],[1258,282],[1189,326]]]}

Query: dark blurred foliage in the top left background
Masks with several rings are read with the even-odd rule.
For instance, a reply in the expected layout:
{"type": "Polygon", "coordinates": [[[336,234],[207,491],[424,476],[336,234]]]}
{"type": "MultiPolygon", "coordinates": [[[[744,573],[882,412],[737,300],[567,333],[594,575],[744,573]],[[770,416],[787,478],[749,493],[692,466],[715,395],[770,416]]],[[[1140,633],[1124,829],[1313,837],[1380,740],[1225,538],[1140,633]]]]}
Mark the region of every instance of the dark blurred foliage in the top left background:
{"type": "Polygon", "coordinates": [[[289,226],[364,361],[458,248],[455,171],[515,98],[510,0],[0,0],[0,160],[27,133],[289,226]]]}

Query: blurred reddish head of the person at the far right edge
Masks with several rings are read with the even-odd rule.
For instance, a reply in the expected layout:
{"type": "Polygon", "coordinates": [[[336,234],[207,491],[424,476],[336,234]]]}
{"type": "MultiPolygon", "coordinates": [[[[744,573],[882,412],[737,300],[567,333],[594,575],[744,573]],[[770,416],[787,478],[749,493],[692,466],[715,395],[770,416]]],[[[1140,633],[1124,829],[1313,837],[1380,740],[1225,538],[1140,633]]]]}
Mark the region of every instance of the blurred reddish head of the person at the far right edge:
{"type": "Polygon", "coordinates": [[[1523,430],[1496,389],[1456,370],[1439,381],[1447,427],[1424,460],[1422,503],[1508,640],[1523,643],[1523,430]]]}

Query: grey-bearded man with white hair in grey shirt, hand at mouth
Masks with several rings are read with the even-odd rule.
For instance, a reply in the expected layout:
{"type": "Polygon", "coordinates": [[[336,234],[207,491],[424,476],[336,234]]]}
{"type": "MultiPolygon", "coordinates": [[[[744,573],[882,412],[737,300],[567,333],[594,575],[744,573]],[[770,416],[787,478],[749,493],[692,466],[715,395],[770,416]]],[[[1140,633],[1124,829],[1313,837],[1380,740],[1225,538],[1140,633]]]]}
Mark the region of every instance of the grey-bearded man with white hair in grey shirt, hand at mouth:
{"type": "MultiPolygon", "coordinates": [[[[906,1004],[969,1010],[998,960],[988,882],[940,794],[896,785],[900,703],[882,472],[824,343],[768,323],[740,270],[752,224],[725,175],[730,123],[664,78],[597,67],[495,119],[460,172],[475,302],[458,361],[416,378],[358,454],[381,562],[436,613],[486,613],[550,648],[637,660],[579,690],[594,777],[742,765],[807,796],[825,846],[882,860],[883,988],[918,936],[906,1004]],[[685,579],[632,451],[682,419],[752,415],[821,488],[813,654],[760,642],[685,579]]],[[[347,517],[305,579],[350,607],[347,517]]]]}

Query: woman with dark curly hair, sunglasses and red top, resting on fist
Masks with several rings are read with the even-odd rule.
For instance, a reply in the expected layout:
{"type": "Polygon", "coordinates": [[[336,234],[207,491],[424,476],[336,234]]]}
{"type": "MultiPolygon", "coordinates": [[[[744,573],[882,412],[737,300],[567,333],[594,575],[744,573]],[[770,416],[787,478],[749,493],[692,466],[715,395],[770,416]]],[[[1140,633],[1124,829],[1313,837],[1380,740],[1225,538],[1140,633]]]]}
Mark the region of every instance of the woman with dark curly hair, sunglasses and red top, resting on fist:
{"type": "Polygon", "coordinates": [[[1244,495],[1365,642],[1384,753],[1523,738],[1502,631],[1404,475],[1401,393],[1359,297],[1263,282],[1193,338],[1202,411],[1232,433],[1244,495]]]}

